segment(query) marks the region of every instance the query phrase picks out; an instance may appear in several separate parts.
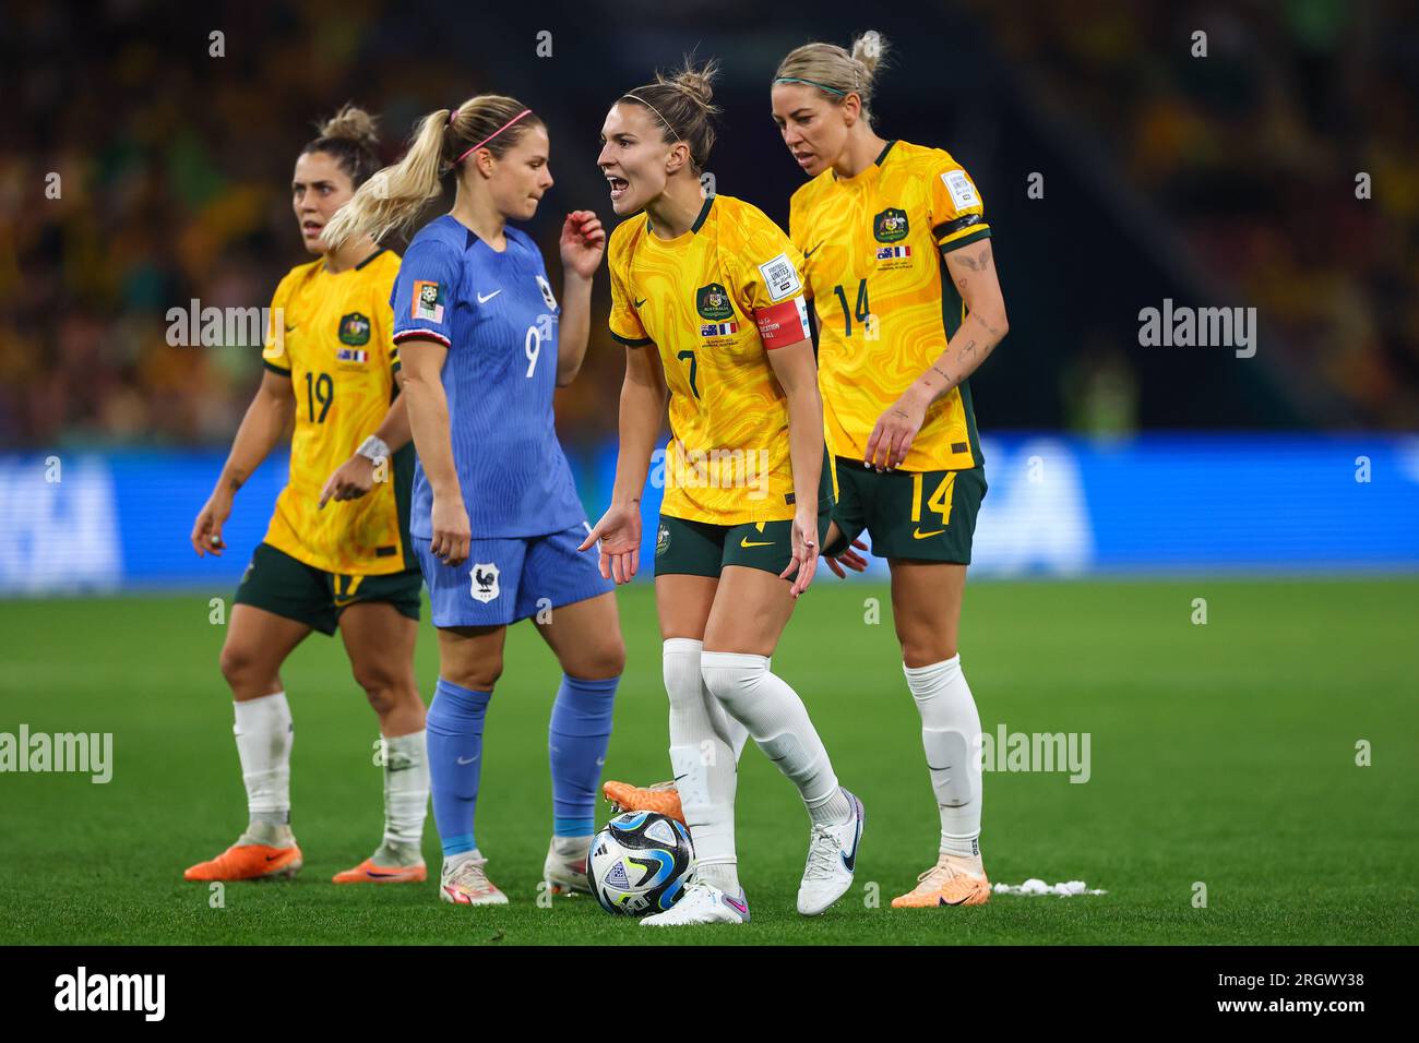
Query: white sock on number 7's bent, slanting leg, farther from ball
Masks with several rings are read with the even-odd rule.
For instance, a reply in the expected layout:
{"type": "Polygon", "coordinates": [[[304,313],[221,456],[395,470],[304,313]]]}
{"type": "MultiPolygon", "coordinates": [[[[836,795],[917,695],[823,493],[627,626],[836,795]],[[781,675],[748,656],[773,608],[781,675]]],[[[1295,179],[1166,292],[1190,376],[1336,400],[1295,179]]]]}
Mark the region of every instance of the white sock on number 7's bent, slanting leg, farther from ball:
{"type": "Polygon", "coordinates": [[[769,671],[765,656],[707,651],[700,668],[714,697],[797,786],[813,822],[839,823],[853,813],[803,700],[769,671]]]}

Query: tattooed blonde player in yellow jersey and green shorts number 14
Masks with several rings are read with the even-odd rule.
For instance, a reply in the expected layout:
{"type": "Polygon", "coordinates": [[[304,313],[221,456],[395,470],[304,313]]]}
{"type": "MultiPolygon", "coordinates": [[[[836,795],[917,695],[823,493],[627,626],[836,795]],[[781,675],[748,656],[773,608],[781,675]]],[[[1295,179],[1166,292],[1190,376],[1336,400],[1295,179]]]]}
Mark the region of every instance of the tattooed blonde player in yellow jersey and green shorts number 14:
{"type": "Polygon", "coordinates": [[[851,53],[796,48],[773,79],[773,121],[812,179],[793,193],[789,234],[807,257],[837,471],[823,553],[843,575],[833,559],[867,529],[873,555],[891,568],[897,639],[941,809],[937,866],[893,905],[976,905],[990,894],[978,843],[981,717],[956,636],[986,482],[968,377],[1007,324],[969,175],[941,149],[873,129],[884,50],[877,33],[851,53]]]}

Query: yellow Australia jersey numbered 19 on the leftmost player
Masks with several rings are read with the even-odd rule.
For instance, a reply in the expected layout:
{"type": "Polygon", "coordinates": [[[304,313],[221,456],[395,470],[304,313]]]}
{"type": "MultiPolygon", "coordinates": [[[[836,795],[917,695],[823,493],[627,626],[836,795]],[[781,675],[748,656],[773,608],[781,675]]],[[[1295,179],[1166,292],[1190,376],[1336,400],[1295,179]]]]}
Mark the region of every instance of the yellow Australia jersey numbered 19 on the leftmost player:
{"type": "Polygon", "coordinates": [[[291,478],[265,542],[316,569],[380,576],[412,568],[409,488],[413,453],[394,453],[389,480],[360,500],[318,509],[325,480],[373,434],[394,397],[399,351],[389,294],[399,254],[380,250],[332,274],[324,261],[292,268],[271,299],[261,359],[291,377],[291,478]]]}

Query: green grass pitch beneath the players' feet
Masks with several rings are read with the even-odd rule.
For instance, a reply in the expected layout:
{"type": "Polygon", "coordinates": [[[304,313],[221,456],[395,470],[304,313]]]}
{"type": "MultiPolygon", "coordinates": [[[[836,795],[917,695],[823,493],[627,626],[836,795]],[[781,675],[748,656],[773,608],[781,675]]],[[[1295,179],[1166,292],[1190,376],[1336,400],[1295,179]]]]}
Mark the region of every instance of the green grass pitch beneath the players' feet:
{"type": "MultiPolygon", "coordinates": [[[[375,718],[338,639],[312,636],[284,671],[305,868],[292,883],[228,884],[213,908],[182,870],[245,822],[213,595],[230,592],[0,603],[0,731],[112,732],[115,761],[108,785],[0,775],[0,942],[1419,942],[1416,579],[973,585],[962,649],[985,729],[1091,736],[1084,785],[986,773],[985,864],[995,881],[1108,893],[900,911],[891,897],[935,857],[918,718],[885,587],[824,573],[773,667],[866,803],[857,885],[823,917],[796,914],[807,819],[751,744],[738,830],[753,922],[668,932],[590,898],[536,900],[558,668],[526,623],[509,634],[488,712],[478,807],[480,846],[511,905],[444,905],[433,884],[329,883],[379,840],[380,771],[375,718]],[[1205,626],[1192,623],[1196,597],[1205,626]],[[1355,763],[1362,739],[1371,766],[1355,763]]],[[[650,586],[623,590],[620,606],[630,661],[606,771],[653,782],[667,775],[667,739],[650,586]]],[[[434,651],[426,622],[426,692],[434,651]]],[[[431,816],[424,854],[436,870],[431,816]]]]}

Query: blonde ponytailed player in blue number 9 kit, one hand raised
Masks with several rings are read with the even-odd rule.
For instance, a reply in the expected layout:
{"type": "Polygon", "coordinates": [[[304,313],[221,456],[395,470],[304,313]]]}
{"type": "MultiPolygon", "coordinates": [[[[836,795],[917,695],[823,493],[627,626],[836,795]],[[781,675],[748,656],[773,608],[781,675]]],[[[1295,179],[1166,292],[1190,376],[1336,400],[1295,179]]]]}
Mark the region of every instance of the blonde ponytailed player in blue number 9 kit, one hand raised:
{"type": "Polygon", "coordinates": [[[556,438],[552,394],[586,355],[596,214],[562,226],[558,307],[542,255],[511,220],[552,186],[548,133],[521,102],[478,95],[420,122],[402,162],[375,175],[326,227],[376,238],[407,227],[454,172],[453,210],[426,224],[394,284],[394,341],[419,465],[410,534],[438,627],[429,772],[444,863],[438,894],[502,904],[474,839],[482,722],[509,623],[535,617],[562,666],[552,705],[553,827],[543,874],[586,891],[596,786],[626,661],[613,583],[556,438]]]}

